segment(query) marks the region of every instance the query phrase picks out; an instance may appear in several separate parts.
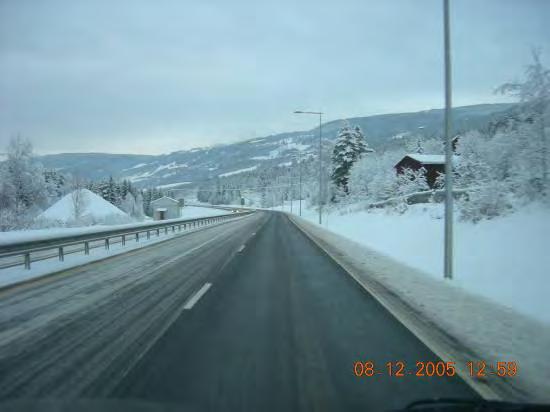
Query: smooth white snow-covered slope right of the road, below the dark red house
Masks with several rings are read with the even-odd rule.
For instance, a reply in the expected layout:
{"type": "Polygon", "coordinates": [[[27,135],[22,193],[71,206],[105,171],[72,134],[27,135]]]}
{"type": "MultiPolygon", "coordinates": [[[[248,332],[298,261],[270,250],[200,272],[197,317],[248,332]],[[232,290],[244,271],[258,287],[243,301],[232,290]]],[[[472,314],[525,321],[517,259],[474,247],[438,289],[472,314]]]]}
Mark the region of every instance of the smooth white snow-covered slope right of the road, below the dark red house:
{"type": "MultiPolygon", "coordinates": [[[[290,211],[289,204],[284,210],[290,211]]],[[[302,208],[302,217],[316,223],[318,214],[302,208]]],[[[435,278],[443,276],[440,204],[414,205],[402,215],[341,210],[323,219],[323,227],[335,233],[435,278]]],[[[477,224],[456,221],[452,284],[550,323],[549,241],[550,211],[536,205],[477,224]]]]}

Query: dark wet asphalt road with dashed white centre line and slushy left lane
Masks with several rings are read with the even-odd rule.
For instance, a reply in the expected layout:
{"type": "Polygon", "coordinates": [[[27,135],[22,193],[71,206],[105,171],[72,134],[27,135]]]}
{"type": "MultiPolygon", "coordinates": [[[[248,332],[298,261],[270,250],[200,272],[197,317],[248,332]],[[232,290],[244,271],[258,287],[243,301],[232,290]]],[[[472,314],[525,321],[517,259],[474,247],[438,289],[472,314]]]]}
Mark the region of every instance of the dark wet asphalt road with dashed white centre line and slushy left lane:
{"type": "Polygon", "coordinates": [[[284,215],[258,212],[0,292],[0,399],[389,410],[476,398],[284,215]]]}

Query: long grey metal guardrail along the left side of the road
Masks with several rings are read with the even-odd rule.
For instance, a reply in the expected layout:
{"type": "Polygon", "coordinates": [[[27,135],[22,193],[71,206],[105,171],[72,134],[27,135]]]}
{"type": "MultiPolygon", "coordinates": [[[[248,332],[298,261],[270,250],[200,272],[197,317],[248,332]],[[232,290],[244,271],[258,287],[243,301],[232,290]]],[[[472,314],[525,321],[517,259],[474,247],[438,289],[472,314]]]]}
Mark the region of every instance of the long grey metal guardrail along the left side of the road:
{"type": "MultiPolygon", "coordinates": [[[[172,233],[175,233],[176,231],[181,232],[182,229],[186,230],[206,226],[212,223],[226,221],[238,216],[248,215],[250,213],[253,212],[236,212],[227,215],[193,219],[170,219],[168,221],[163,221],[162,223],[151,222],[150,224],[146,223],[125,228],[115,227],[112,229],[99,230],[97,232],[87,232],[78,235],[61,235],[53,238],[37,239],[32,241],[18,241],[5,245],[0,245],[0,259],[14,256],[23,256],[22,263],[17,263],[11,266],[19,266],[23,264],[25,266],[25,269],[30,269],[32,253],[57,249],[56,255],[59,257],[60,261],[63,261],[65,259],[65,254],[68,253],[77,253],[83,250],[85,255],[89,255],[90,244],[94,242],[102,242],[105,249],[108,250],[111,246],[111,243],[121,243],[121,245],[124,246],[128,237],[133,237],[135,238],[136,242],[139,242],[140,235],[142,234],[146,237],[146,239],[150,239],[151,233],[154,233],[157,237],[160,237],[161,231],[163,231],[164,234],[167,235],[170,229],[172,233]],[[75,245],[84,245],[84,248],[79,248],[68,252],[66,251],[65,248],[75,245]]],[[[50,254],[46,257],[42,257],[41,259],[47,259],[51,257],[52,255],[50,254]]]]}

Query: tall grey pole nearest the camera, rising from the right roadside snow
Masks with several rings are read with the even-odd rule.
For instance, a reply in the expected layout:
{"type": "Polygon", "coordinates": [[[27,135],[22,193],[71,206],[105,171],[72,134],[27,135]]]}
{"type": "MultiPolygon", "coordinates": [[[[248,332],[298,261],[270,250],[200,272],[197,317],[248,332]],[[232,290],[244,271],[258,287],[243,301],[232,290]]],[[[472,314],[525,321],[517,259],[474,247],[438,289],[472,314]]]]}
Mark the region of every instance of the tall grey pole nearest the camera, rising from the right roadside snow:
{"type": "Polygon", "coordinates": [[[444,278],[453,278],[453,144],[451,141],[451,35],[449,0],[443,0],[445,48],[445,257],[444,278]]]}

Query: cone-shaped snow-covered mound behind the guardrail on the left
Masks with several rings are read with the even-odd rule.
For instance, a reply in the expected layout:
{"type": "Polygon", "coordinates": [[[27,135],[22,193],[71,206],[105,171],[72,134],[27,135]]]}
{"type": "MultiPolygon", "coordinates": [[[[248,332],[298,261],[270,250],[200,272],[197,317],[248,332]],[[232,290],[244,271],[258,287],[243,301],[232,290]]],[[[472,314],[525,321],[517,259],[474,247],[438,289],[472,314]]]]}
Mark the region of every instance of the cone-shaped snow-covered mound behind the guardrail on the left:
{"type": "Polygon", "coordinates": [[[132,219],[118,207],[88,189],[63,196],[36,218],[43,225],[88,226],[128,223],[132,219]]]}

